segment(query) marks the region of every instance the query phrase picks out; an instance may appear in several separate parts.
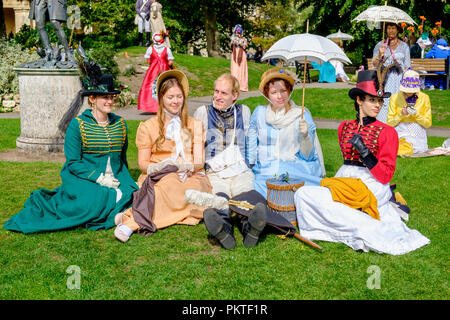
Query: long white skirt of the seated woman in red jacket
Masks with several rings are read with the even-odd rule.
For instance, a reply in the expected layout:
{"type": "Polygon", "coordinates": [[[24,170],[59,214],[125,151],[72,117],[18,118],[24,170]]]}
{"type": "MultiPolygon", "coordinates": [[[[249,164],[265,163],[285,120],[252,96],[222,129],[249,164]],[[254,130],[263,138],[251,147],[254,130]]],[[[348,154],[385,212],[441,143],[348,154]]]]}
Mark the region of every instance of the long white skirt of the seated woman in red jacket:
{"type": "Polygon", "coordinates": [[[378,182],[367,168],[343,165],[336,177],[361,179],[377,198],[380,220],[333,201],[326,187],[305,186],[297,190],[294,198],[301,236],[391,255],[405,254],[430,243],[403,223],[389,202],[389,184],[378,182]]]}

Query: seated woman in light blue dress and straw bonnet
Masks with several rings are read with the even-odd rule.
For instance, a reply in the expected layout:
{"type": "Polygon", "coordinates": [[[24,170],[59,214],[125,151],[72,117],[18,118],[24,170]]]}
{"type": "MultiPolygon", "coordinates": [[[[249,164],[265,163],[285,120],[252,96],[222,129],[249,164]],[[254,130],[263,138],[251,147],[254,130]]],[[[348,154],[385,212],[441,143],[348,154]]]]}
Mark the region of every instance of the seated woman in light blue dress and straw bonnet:
{"type": "Polygon", "coordinates": [[[250,118],[246,158],[253,165],[255,190],[267,197],[266,180],[286,172],[290,178],[319,185],[325,176],[322,151],[311,113],[290,100],[294,78],[280,68],[267,70],[259,91],[269,101],[257,106],[250,118]]]}

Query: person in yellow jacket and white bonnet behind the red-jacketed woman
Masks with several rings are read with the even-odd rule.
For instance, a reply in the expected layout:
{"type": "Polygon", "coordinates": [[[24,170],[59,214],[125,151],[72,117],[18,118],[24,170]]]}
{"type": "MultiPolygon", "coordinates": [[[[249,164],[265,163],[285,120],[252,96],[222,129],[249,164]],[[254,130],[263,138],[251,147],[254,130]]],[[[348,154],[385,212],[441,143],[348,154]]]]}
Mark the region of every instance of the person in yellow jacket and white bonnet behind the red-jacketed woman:
{"type": "Polygon", "coordinates": [[[431,127],[431,104],[426,93],[420,91],[419,74],[407,70],[400,83],[400,91],[389,102],[387,124],[398,133],[398,154],[422,153],[428,150],[427,132],[431,127]]]}

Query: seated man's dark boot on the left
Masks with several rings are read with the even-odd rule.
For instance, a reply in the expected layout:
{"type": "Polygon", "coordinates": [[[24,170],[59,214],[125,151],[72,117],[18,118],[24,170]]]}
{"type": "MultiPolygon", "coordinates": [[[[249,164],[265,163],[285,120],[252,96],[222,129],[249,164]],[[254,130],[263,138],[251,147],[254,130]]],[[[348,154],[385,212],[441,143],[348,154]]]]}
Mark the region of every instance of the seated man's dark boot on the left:
{"type": "Polygon", "coordinates": [[[236,239],[233,236],[233,227],[225,222],[222,215],[215,209],[206,209],[203,212],[203,219],[205,220],[206,230],[219,240],[220,244],[225,249],[233,249],[236,247],[236,239]]]}

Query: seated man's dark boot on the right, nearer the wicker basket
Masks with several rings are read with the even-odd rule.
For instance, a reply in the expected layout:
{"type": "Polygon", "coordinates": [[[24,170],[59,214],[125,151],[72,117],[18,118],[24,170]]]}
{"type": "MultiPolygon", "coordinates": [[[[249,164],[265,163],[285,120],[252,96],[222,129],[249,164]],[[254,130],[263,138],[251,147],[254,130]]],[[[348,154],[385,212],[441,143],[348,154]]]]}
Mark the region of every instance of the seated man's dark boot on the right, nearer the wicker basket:
{"type": "Polygon", "coordinates": [[[241,227],[244,236],[244,246],[254,247],[258,244],[259,236],[264,230],[267,221],[266,205],[258,202],[250,212],[248,220],[241,227]]]}

